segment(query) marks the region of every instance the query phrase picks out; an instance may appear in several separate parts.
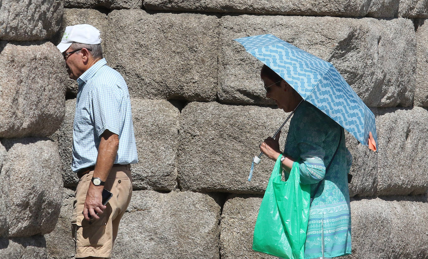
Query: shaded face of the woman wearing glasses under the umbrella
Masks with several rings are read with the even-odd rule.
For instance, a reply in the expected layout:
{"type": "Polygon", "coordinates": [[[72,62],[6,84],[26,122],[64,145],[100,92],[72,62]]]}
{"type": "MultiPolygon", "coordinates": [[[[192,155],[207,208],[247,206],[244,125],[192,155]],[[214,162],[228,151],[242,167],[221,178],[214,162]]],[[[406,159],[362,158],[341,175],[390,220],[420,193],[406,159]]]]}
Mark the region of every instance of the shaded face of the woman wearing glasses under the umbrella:
{"type": "Polygon", "coordinates": [[[263,75],[262,81],[265,84],[266,97],[274,100],[279,109],[283,109],[284,112],[292,112],[296,108],[296,98],[293,94],[294,89],[287,82],[282,80],[278,84],[275,84],[276,82],[263,75]]]}

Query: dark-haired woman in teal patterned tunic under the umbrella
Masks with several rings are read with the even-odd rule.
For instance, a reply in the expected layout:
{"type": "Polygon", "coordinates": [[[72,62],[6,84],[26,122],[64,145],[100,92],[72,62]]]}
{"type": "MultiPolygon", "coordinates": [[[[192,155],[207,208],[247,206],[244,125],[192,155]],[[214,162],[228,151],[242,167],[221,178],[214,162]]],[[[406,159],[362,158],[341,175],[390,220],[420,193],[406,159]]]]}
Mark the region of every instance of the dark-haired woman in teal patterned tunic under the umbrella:
{"type": "MultiPolygon", "coordinates": [[[[304,258],[350,254],[351,209],[347,173],[352,156],[345,146],[343,128],[312,104],[300,103],[302,97],[268,66],[263,66],[261,77],[266,97],[275,100],[284,112],[294,110],[281,164],[289,173],[293,162],[299,162],[300,182],[311,185],[313,202],[309,209],[304,258]]],[[[278,140],[279,134],[275,139],[265,139],[260,145],[260,150],[274,161],[281,153],[278,140]]]]}

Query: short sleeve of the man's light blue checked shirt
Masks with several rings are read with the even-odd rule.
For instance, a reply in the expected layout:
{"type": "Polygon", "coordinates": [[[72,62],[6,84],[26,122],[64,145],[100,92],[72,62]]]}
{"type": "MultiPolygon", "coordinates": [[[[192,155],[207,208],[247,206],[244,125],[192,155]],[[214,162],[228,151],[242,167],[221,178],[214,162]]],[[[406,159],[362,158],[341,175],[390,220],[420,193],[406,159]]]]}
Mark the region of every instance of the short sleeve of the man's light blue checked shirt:
{"type": "Polygon", "coordinates": [[[108,129],[120,136],[122,98],[110,85],[99,85],[92,90],[92,114],[98,137],[108,129]]]}

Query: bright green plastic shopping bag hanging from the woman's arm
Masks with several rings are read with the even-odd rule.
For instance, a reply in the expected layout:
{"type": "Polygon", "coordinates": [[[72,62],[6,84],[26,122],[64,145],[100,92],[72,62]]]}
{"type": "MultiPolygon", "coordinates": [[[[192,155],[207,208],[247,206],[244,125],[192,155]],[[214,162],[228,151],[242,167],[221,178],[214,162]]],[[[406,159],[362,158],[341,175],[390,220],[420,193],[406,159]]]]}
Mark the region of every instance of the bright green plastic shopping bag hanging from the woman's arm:
{"type": "Polygon", "coordinates": [[[260,205],[253,250],[285,259],[303,259],[310,185],[300,183],[298,162],[293,163],[288,180],[282,181],[280,158],[276,160],[260,205]]]}

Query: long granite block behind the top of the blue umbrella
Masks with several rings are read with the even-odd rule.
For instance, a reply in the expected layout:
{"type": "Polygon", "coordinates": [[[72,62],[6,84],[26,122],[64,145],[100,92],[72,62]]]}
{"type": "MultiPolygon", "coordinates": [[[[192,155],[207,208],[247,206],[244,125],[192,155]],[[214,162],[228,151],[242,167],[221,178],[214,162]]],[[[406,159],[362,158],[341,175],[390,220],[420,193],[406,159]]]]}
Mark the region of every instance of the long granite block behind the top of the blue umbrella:
{"type": "Polygon", "coordinates": [[[227,103],[269,103],[262,63],[235,38],[273,34],[331,62],[370,107],[411,106],[416,36],[404,18],[223,16],[220,19],[218,98],[227,103]]]}

